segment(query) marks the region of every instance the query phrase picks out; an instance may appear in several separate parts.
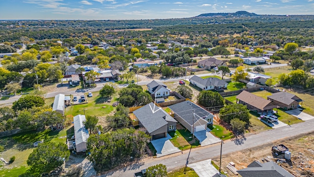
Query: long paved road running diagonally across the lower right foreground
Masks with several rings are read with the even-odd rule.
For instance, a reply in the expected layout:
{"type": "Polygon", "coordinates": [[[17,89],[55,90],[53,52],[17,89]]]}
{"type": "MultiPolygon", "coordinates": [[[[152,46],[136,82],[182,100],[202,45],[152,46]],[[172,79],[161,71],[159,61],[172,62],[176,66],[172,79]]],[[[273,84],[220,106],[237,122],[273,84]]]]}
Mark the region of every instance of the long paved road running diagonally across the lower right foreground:
{"type": "MultiPolygon", "coordinates": [[[[278,140],[310,132],[314,132],[314,119],[298,124],[293,124],[291,126],[288,125],[277,129],[271,129],[259,134],[246,135],[242,139],[225,141],[222,147],[222,153],[227,154],[247,148],[258,147],[267,143],[273,143],[276,145],[278,140]]],[[[268,148],[270,151],[271,146],[268,148]]],[[[164,164],[167,167],[167,170],[171,171],[183,167],[186,163],[188,155],[188,163],[195,163],[217,157],[219,154],[220,143],[207,147],[194,148],[191,150],[190,154],[189,150],[185,150],[183,151],[183,154],[179,152],[160,158],[146,158],[139,163],[129,165],[128,167],[118,171],[104,174],[101,177],[133,177],[134,173],[159,163],[164,164]]]]}

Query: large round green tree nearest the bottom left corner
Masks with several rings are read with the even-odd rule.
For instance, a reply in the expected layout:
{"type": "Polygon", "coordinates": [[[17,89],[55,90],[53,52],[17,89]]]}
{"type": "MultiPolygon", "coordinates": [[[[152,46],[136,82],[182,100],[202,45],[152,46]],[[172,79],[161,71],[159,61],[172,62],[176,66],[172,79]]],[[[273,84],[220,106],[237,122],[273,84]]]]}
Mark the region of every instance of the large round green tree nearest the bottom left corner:
{"type": "Polygon", "coordinates": [[[30,166],[32,173],[40,175],[49,173],[55,168],[61,166],[69,159],[70,151],[64,143],[47,142],[39,144],[32,153],[29,154],[27,165],[30,166]]]}

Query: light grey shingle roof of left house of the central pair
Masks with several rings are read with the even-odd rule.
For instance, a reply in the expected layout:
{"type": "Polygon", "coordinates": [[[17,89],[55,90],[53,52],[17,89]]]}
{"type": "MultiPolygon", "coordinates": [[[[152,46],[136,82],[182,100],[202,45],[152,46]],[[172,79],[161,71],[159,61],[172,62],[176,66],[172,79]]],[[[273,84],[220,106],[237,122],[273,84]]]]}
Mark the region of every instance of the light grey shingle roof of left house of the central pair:
{"type": "Polygon", "coordinates": [[[167,125],[167,121],[177,122],[177,120],[167,114],[162,108],[156,106],[154,103],[149,103],[133,111],[133,114],[146,128],[148,133],[152,133],[157,129],[167,125]]]}

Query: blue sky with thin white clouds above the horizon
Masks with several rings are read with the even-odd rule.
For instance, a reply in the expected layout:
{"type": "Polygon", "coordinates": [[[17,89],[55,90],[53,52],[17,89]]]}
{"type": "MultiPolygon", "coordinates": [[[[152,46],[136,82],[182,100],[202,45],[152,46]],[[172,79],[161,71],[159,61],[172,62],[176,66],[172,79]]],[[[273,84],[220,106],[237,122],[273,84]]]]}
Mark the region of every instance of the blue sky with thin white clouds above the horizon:
{"type": "Polygon", "coordinates": [[[313,9],[314,0],[0,0],[0,19],[165,19],[239,10],[312,15],[313,9]]]}

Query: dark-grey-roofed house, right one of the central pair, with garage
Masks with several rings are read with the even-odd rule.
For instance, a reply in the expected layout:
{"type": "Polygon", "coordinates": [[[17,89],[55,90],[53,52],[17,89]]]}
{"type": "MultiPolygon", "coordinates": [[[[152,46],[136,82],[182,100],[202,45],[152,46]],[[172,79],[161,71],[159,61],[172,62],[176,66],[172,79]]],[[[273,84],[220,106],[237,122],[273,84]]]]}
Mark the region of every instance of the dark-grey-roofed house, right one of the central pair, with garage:
{"type": "Polygon", "coordinates": [[[191,101],[183,101],[168,108],[174,114],[174,118],[190,132],[207,130],[207,125],[213,122],[212,114],[191,101]]]}

